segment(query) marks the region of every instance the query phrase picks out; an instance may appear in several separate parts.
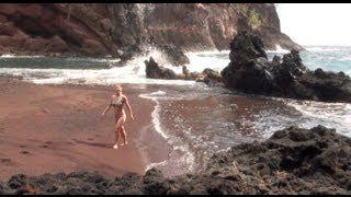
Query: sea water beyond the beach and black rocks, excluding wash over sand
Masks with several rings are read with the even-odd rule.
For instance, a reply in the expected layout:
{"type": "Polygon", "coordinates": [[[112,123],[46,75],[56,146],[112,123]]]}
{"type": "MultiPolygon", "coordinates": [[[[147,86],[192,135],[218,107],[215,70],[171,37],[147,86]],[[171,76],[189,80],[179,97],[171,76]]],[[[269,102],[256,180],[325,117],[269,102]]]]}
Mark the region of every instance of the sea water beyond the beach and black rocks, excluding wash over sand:
{"type": "MultiPolygon", "coordinates": [[[[351,47],[306,46],[302,51],[303,62],[310,69],[322,68],[329,71],[343,71],[351,74],[351,47]]],[[[287,50],[268,50],[273,55],[283,55],[287,50]]],[[[228,62],[228,50],[186,53],[190,58],[190,71],[202,71],[205,68],[222,70],[228,62]]],[[[0,74],[22,76],[35,83],[147,83],[147,84],[191,84],[189,81],[151,80],[145,77],[144,60],[152,56],[161,65],[181,73],[181,68],[168,63],[163,55],[150,49],[148,55],[136,57],[126,67],[107,69],[107,65],[118,61],[112,58],[52,58],[43,56],[0,56],[0,74]]]]}

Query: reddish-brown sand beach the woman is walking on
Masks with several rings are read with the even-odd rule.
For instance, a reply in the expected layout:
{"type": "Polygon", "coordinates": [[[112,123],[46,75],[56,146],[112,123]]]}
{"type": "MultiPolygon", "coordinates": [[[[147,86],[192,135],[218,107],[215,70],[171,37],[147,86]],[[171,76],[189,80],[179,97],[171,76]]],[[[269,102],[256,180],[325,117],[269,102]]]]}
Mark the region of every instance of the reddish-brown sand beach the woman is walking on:
{"type": "Polygon", "coordinates": [[[124,85],[136,119],[126,112],[129,143],[114,150],[113,112],[99,120],[111,86],[38,85],[0,78],[0,178],[84,170],[112,177],[144,174],[148,164],[166,160],[170,148],[151,124],[155,103],[139,97],[141,92],[124,85]]]}

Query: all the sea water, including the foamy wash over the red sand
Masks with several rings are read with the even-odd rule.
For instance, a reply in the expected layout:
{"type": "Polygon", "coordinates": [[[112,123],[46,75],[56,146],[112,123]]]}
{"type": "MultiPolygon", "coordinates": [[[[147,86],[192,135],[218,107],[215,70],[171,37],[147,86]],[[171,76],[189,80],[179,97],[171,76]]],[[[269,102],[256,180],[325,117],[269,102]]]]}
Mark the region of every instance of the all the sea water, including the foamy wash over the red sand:
{"type": "MultiPolygon", "coordinates": [[[[351,76],[351,47],[305,48],[301,57],[309,69],[322,68],[351,76]]],[[[269,50],[268,55],[272,58],[285,53],[288,51],[279,48],[269,50]]],[[[222,70],[229,63],[228,54],[228,50],[186,53],[188,68],[190,71],[222,70]]],[[[21,76],[25,81],[38,84],[129,83],[138,89],[152,85],[152,91],[139,96],[155,101],[155,128],[168,139],[173,151],[168,161],[150,166],[172,165],[183,172],[201,169],[214,152],[267,139],[273,131],[290,125],[310,128],[320,124],[351,137],[351,104],[244,96],[194,81],[146,79],[144,60],[149,56],[178,73],[182,72],[182,68],[170,66],[160,51],[150,49],[148,55],[136,57],[125,67],[114,68],[106,66],[118,59],[3,55],[0,76],[21,76]]]]}

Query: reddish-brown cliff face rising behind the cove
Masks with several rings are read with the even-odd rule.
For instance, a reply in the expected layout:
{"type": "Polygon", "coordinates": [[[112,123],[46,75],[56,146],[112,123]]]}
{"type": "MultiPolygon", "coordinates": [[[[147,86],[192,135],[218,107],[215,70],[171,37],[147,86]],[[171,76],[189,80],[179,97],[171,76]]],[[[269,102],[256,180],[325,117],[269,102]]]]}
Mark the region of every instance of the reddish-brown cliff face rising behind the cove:
{"type": "Polygon", "coordinates": [[[0,54],[118,56],[141,44],[228,49],[239,30],[274,49],[301,48],[271,3],[1,4],[0,54]]]}

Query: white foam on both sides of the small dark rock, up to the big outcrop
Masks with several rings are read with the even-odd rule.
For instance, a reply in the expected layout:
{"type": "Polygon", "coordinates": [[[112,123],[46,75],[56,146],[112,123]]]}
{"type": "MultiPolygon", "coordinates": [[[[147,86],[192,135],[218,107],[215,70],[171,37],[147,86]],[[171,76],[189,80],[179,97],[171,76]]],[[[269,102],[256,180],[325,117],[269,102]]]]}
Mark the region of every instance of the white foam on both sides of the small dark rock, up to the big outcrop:
{"type": "MultiPolygon", "coordinates": [[[[203,51],[188,53],[190,63],[188,69],[193,72],[201,72],[205,68],[212,68],[220,71],[228,62],[229,51],[203,51]],[[217,56],[216,56],[217,55],[217,56]]],[[[4,57],[16,58],[19,56],[8,55],[4,57]]],[[[23,76],[24,80],[38,84],[60,84],[60,83],[83,83],[83,84],[174,84],[192,85],[194,81],[185,80],[159,80],[146,78],[145,60],[152,57],[160,66],[173,70],[176,73],[182,73],[181,67],[173,67],[169,63],[167,57],[157,49],[149,49],[146,55],[139,55],[126,62],[124,67],[113,67],[111,69],[27,69],[27,68],[0,68],[0,74],[23,76]]],[[[120,59],[95,59],[95,58],[66,58],[68,61],[90,61],[90,62],[116,62],[120,59]]]]}

